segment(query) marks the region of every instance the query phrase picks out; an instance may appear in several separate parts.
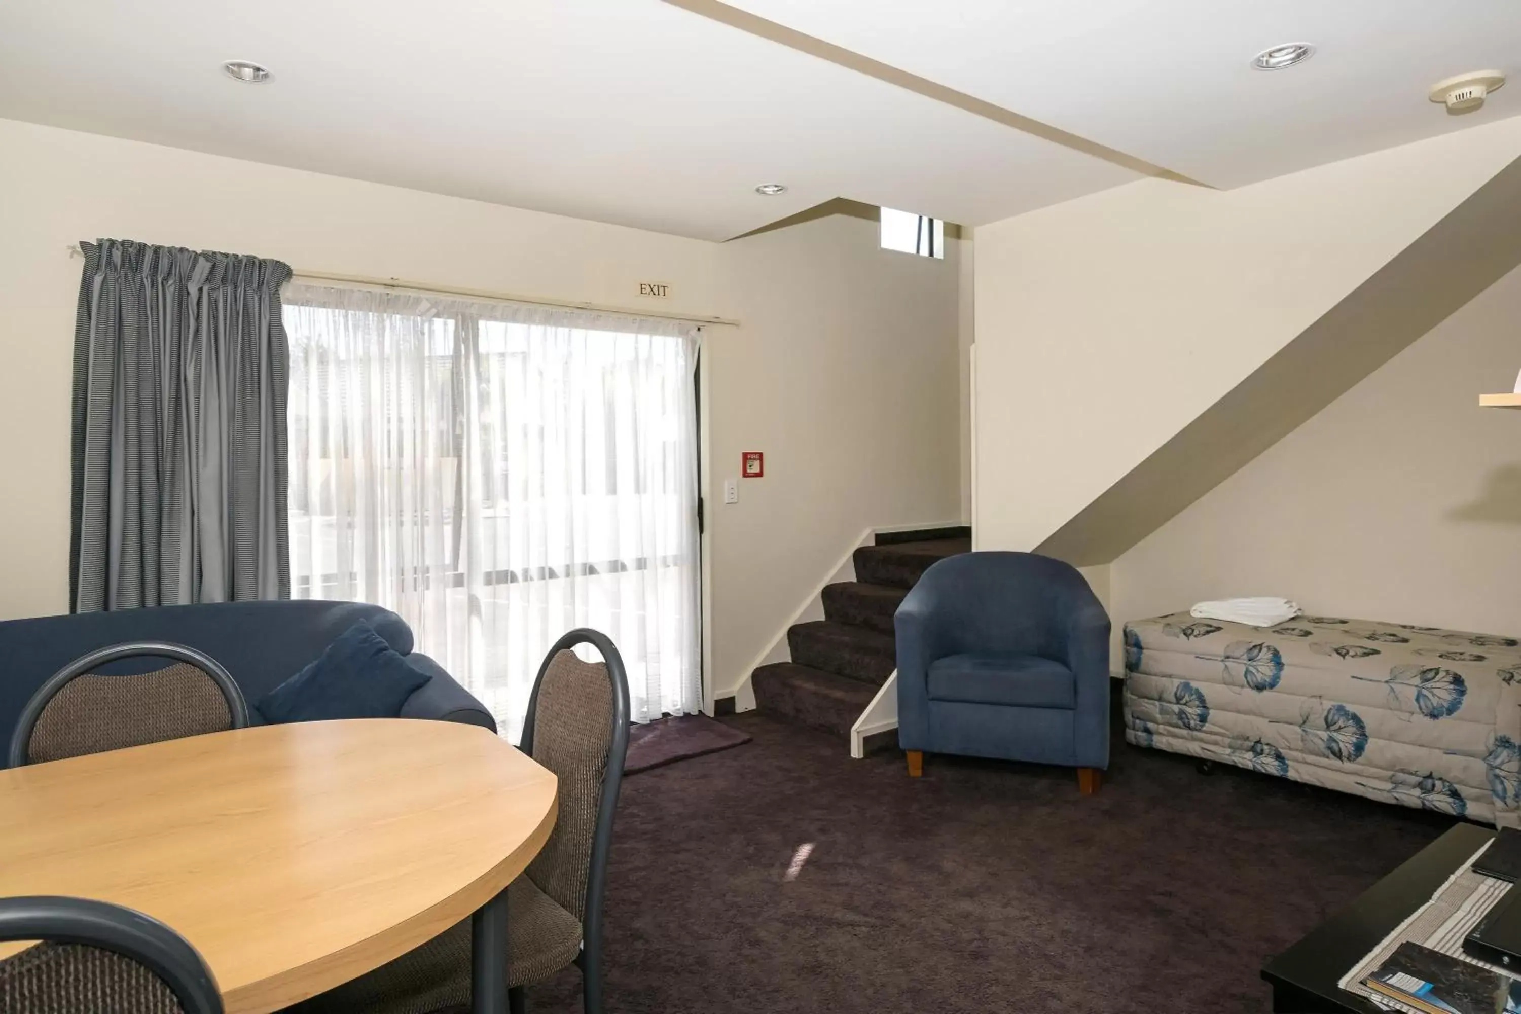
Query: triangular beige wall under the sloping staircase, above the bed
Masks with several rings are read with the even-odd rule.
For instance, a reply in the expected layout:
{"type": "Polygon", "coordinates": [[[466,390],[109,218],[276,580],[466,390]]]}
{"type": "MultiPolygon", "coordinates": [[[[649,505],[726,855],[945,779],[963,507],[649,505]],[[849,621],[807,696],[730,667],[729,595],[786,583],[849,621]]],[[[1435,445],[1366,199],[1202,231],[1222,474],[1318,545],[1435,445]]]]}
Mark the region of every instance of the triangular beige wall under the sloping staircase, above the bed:
{"type": "Polygon", "coordinates": [[[1115,623],[1282,594],[1329,616],[1521,631],[1521,269],[1110,567],[1115,623]]]}

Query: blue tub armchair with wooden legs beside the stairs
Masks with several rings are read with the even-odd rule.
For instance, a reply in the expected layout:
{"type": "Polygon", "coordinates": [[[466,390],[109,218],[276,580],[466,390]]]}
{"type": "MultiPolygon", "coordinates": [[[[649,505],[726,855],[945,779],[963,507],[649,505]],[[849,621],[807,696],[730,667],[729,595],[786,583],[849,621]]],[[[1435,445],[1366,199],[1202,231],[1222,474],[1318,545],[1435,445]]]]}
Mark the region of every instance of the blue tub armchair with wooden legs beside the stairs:
{"type": "Polygon", "coordinates": [[[1109,614],[1083,575],[1036,553],[963,553],[897,610],[897,742],[923,754],[1109,766],[1109,614]]]}

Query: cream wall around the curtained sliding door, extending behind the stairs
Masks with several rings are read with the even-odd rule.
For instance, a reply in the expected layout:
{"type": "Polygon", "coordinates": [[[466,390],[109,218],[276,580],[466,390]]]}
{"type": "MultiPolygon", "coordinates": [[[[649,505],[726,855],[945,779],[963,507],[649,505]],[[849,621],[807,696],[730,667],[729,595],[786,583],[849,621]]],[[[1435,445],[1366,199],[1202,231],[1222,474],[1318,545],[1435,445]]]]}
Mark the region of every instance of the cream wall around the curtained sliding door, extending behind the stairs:
{"type": "Polygon", "coordinates": [[[67,608],[68,385],[81,261],[100,236],[546,299],[719,315],[712,490],[741,450],[767,477],[707,496],[710,686],[741,667],[868,524],[960,511],[957,245],[878,249],[820,219],[726,245],[0,120],[0,617],[67,608]]]}

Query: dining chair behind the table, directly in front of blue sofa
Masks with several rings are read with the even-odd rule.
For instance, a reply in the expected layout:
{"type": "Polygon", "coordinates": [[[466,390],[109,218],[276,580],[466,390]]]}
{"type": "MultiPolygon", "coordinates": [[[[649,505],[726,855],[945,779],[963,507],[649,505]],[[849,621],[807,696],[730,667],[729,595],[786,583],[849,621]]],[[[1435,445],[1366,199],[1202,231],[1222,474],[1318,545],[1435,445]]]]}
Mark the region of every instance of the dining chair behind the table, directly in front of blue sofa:
{"type": "Polygon", "coordinates": [[[11,768],[248,725],[248,704],[210,655],[169,642],[131,642],[81,655],[37,689],[11,734],[11,768]],[[96,672],[129,658],[169,666],[96,672]]]}

